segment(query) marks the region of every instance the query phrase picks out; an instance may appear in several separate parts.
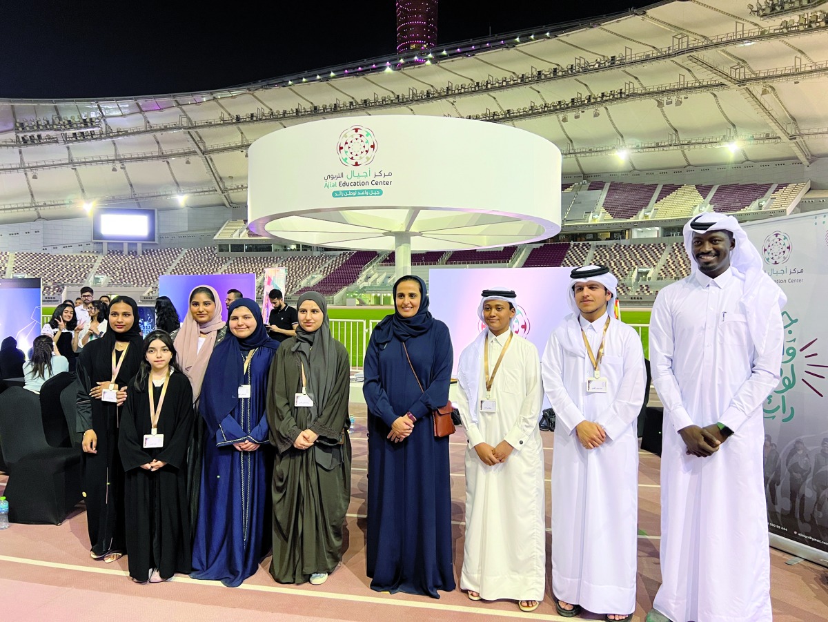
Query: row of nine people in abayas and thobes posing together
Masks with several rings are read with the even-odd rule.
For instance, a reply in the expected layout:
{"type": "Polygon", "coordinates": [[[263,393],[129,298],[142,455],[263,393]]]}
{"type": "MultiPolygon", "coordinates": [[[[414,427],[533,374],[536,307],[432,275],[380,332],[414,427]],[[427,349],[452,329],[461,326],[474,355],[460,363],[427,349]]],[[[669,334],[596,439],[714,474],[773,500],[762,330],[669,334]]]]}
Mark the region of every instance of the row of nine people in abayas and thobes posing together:
{"type": "MultiPolygon", "coordinates": [[[[758,413],[779,377],[785,297],[733,217],[696,216],[684,235],[691,275],[659,294],[650,327],[665,410],[662,586],[647,620],[771,620],[758,413]]],[[[481,293],[486,328],[460,354],[455,400],[468,439],[460,589],[471,600],[532,611],[544,597],[546,396],[556,610],[632,616],[646,373],[638,334],[613,313],[617,284],[608,268],[573,270],[561,292],[572,312],[542,354],[513,330],[517,292],[481,293]]],[[[363,366],[366,567],[373,590],[439,598],[456,588],[450,437],[435,426],[454,354],[421,278],[397,280],[393,297],[363,366]]],[[[142,337],[136,302],[114,297],[76,370],[91,557],[128,554],[137,582],[185,573],[227,586],[271,551],[282,583],[320,585],[341,562],[349,354],[324,297],[307,292],[296,309],[281,292],[271,299],[266,322],[230,292],[225,322],[219,293],[196,287],[180,325],[142,337]]],[[[79,313],[55,314],[57,338],[38,338],[50,342],[44,355],[62,352],[65,333],[74,348],[79,313]]]]}

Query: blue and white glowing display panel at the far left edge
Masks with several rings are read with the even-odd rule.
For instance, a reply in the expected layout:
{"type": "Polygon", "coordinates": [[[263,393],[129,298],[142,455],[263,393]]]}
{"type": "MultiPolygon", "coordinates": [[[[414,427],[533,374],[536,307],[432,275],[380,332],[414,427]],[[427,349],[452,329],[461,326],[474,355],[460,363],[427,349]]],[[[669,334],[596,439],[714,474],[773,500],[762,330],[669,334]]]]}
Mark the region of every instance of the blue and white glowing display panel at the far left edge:
{"type": "Polygon", "coordinates": [[[12,336],[27,352],[41,334],[41,280],[0,278],[0,340],[12,336]]]}

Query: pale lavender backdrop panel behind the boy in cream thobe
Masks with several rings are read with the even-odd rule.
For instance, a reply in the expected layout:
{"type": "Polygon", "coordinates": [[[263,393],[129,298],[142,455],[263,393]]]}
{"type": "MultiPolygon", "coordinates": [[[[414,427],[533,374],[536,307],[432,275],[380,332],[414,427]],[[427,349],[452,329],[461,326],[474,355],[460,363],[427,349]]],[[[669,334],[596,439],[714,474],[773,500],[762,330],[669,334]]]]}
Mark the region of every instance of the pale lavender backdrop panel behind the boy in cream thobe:
{"type": "Polygon", "coordinates": [[[493,287],[517,293],[517,335],[537,346],[540,354],[552,330],[571,312],[566,302],[572,268],[435,268],[429,271],[431,315],[444,321],[455,350],[454,373],[460,352],[469,345],[483,322],[477,316],[480,292],[493,287]]]}

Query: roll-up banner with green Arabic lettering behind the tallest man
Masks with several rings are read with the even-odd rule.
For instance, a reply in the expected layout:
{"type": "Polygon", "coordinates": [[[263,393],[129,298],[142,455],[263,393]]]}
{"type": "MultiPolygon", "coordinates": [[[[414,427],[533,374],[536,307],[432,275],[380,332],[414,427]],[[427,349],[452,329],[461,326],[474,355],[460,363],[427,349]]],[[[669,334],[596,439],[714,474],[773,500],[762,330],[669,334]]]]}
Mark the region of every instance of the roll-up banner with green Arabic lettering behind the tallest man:
{"type": "Polygon", "coordinates": [[[763,257],[765,272],[787,294],[782,310],[782,379],[763,405],[772,544],[825,564],[828,213],[763,220],[745,224],[744,229],[763,257]]]}

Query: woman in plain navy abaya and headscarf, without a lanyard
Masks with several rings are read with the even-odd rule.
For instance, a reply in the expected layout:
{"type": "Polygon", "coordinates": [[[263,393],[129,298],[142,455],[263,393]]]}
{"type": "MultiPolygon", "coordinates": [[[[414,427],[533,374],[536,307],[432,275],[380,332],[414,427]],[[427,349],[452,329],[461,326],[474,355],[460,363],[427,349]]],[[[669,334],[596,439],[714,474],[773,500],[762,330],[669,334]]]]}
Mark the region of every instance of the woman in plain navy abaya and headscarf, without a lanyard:
{"type": "Polygon", "coordinates": [[[394,302],[365,355],[368,576],[376,591],[440,598],[455,589],[449,439],[434,436],[431,412],[449,400],[454,354],[420,277],[398,279],[394,302]]]}

